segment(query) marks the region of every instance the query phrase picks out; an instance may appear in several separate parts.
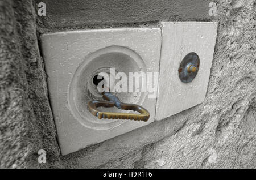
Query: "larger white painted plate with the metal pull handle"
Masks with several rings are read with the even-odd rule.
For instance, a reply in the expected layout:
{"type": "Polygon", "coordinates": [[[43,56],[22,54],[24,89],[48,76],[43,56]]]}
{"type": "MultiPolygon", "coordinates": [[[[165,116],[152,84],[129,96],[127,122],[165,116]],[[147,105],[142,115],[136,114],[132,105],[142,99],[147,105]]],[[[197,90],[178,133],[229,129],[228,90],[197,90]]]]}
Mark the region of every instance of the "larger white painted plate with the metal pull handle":
{"type": "Polygon", "coordinates": [[[127,59],[122,63],[115,63],[113,66],[116,68],[132,72],[137,71],[137,68],[146,72],[158,72],[161,47],[160,28],[58,32],[42,35],[41,40],[48,76],[49,96],[63,155],[154,121],[156,98],[148,98],[147,93],[141,93],[137,95],[138,97],[129,97],[126,100],[131,100],[146,108],[150,112],[148,122],[97,119],[86,109],[87,99],[83,96],[82,85],[81,87],[79,85],[83,83],[82,78],[85,82],[91,78],[89,72],[101,66],[100,61],[108,63],[111,57],[116,61],[118,58],[122,61],[123,58],[127,59]],[[100,55],[102,57],[97,59],[100,55]],[[97,63],[93,63],[94,59],[97,59],[97,63]],[[84,74],[79,74],[81,71],[84,74]],[[72,86],[73,84],[75,85],[72,86]],[[76,92],[77,89],[80,92],[76,92]],[[81,97],[77,98],[77,95],[81,97]],[[76,101],[79,101],[79,104],[76,104],[76,101]]]}

